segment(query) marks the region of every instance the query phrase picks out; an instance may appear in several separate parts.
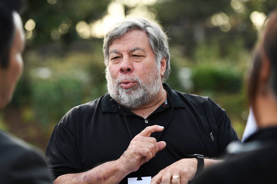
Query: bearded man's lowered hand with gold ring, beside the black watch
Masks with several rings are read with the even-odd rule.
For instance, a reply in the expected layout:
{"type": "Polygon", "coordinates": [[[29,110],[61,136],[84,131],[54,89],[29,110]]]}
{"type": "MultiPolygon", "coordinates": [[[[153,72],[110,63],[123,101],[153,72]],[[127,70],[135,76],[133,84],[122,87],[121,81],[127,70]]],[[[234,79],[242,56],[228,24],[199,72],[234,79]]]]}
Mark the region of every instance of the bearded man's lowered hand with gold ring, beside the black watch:
{"type": "Polygon", "coordinates": [[[188,181],[194,178],[197,171],[197,164],[196,158],[184,158],[176,161],[154,176],[151,184],[187,184],[188,181]]]}

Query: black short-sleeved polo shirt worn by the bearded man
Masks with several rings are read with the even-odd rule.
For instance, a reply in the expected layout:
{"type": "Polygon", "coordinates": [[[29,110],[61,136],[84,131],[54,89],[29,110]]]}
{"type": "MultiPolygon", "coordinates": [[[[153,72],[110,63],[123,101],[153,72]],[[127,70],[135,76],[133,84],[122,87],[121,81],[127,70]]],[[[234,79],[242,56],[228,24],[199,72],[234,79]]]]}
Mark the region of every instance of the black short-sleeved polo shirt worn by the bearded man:
{"type": "MultiPolygon", "coordinates": [[[[163,87],[167,90],[167,103],[146,119],[122,108],[133,136],[147,126],[164,126],[162,132],[151,137],[165,141],[167,146],[141,166],[142,176],[153,177],[188,154],[218,157],[228,143],[238,140],[225,110],[210,98],[174,91],[166,83],[163,87]]],[[[119,107],[105,94],[72,108],[58,122],[46,149],[55,178],[120,158],[131,139],[119,107]]],[[[137,176],[138,171],[130,173],[121,183],[137,176]]]]}

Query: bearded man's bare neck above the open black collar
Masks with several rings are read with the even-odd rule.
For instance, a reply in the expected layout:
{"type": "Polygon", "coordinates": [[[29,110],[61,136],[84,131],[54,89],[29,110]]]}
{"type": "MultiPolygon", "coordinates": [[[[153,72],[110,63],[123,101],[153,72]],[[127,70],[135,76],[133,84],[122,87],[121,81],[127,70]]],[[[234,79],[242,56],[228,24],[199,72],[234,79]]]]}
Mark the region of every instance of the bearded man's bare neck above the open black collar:
{"type": "Polygon", "coordinates": [[[153,100],[150,103],[143,104],[139,106],[136,109],[132,109],[131,111],[135,113],[136,115],[139,115],[146,119],[151,113],[153,113],[167,98],[167,91],[163,89],[163,86],[161,86],[161,89],[156,97],[153,98],[153,100]]]}

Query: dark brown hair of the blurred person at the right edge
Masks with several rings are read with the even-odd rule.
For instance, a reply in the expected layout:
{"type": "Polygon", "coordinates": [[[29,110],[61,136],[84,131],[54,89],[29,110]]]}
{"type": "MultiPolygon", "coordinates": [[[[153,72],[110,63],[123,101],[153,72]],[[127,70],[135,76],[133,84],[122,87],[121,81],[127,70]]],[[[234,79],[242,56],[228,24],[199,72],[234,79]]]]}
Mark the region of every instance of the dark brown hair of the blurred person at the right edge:
{"type": "Polygon", "coordinates": [[[277,98],[277,10],[269,17],[248,78],[248,99],[252,106],[255,104],[255,96],[260,83],[262,63],[266,59],[268,59],[270,65],[267,86],[277,98]]]}

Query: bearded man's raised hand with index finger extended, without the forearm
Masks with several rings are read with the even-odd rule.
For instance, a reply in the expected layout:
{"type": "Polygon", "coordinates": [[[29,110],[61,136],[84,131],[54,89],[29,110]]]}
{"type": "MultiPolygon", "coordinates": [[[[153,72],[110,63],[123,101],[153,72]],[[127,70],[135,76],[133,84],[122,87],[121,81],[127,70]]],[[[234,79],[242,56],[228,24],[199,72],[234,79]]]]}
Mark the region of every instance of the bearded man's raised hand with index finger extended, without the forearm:
{"type": "Polygon", "coordinates": [[[154,137],[150,137],[151,133],[156,131],[163,131],[163,127],[159,125],[148,126],[133,138],[127,150],[118,159],[123,168],[130,173],[134,172],[142,164],[153,158],[158,151],[165,148],[166,143],[164,141],[157,142],[154,137]]]}

